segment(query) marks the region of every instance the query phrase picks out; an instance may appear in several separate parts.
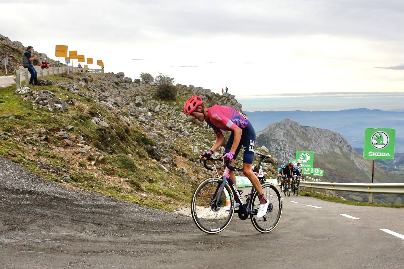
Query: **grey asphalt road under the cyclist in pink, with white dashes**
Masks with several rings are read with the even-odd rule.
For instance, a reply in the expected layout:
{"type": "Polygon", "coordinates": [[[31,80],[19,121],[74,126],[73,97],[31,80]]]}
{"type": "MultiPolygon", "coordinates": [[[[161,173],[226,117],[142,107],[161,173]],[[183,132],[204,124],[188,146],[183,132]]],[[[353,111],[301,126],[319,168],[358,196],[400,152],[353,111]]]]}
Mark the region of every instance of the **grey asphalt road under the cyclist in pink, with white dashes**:
{"type": "Polygon", "coordinates": [[[0,268],[403,268],[404,239],[380,229],[403,235],[404,209],[283,201],[269,234],[235,216],[208,235],[190,217],[71,190],[0,158],[0,268]]]}

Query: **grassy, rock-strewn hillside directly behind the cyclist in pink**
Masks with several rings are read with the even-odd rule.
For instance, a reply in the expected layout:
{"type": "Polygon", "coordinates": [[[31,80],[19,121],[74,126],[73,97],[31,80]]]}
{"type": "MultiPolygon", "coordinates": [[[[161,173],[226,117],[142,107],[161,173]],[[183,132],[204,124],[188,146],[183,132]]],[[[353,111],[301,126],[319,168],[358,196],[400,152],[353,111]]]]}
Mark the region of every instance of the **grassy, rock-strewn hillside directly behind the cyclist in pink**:
{"type": "MultiPolygon", "coordinates": [[[[215,135],[183,113],[185,100],[199,94],[208,105],[242,108],[230,94],[192,85],[160,100],[154,86],[124,73],[50,80],[16,93],[0,88],[0,155],[48,180],[167,210],[189,207],[196,182],[210,175],[198,154],[215,135]]],[[[264,165],[274,176],[274,160],[264,165]]]]}

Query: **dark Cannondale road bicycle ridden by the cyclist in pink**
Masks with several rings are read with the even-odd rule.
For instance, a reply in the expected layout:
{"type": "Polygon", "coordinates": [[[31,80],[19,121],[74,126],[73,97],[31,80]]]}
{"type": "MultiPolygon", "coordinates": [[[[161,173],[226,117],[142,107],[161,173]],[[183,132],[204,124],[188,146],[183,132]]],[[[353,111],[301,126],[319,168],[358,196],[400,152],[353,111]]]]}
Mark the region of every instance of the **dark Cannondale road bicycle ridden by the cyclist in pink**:
{"type": "MultiPolygon", "coordinates": [[[[255,153],[259,156],[258,171],[264,159],[269,155],[255,153]]],[[[221,158],[209,158],[206,161],[222,161],[221,158]]],[[[269,200],[269,206],[265,215],[257,218],[259,209],[258,193],[254,187],[250,194],[245,195],[246,202],[241,198],[240,192],[231,178],[226,177],[226,171],[219,177],[215,165],[209,167],[203,161],[206,169],[213,171],[213,177],[204,179],[195,189],[191,200],[191,215],[196,226],[207,234],[217,234],[223,231],[230,223],[234,213],[241,220],[250,219],[255,229],[261,233],[273,231],[279,223],[282,215],[282,198],[278,188],[271,183],[263,183],[261,187],[265,197],[269,200]],[[240,207],[235,209],[234,197],[240,200],[240,207]],[[228,206],[229,210],[223,208],[228,206]]],[[[231,171],[243,171],[242,168],[233,167],[223,160],[223,167],[231,171]]]]}

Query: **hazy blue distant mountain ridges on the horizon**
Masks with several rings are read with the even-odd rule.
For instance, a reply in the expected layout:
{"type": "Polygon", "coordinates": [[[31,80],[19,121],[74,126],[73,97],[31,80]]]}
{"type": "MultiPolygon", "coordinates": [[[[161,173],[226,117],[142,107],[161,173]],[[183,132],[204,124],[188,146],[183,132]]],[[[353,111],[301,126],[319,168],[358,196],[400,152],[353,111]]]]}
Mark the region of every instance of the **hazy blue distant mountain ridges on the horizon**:
{"type": "Polygon", "coordinates": [[[366,128],[396,129],[396,152],[404,152],[404,112],[355,108],[341,111],[244,111],[256,131],[283,119],[324,128],[341,135],[353,147],[363,147],[366,128]]]}

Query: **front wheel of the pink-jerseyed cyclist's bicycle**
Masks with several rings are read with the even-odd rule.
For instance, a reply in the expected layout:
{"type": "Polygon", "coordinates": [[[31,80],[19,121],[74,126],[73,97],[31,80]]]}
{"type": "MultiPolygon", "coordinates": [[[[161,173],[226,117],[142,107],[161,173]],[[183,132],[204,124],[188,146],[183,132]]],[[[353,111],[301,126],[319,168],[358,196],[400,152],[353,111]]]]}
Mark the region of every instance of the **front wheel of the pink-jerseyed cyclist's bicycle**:
{"type": "Polygon", "coordinates": [[[230,186],[225,182],[219,206],[216,206],[219,190],[223,184],[223,179],[219,177],[209,177],[202,181],[196,188],[191,201],[191,215],[196,226],[207,234],[217,234],[229,225],[234,213],[234,196],[230,186]],[[215,191],[219,188],[217,193],[215,191]],[[215,197],[213,197],[215,195],[215,197]],[[230,210],[224,211],[227,198],[229,199],[230,210]]]}

